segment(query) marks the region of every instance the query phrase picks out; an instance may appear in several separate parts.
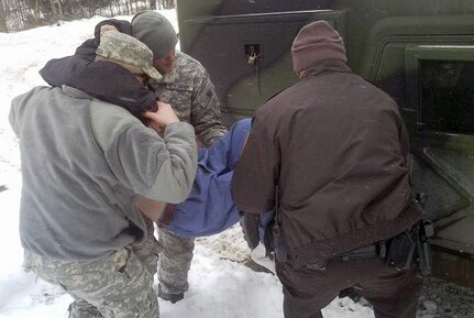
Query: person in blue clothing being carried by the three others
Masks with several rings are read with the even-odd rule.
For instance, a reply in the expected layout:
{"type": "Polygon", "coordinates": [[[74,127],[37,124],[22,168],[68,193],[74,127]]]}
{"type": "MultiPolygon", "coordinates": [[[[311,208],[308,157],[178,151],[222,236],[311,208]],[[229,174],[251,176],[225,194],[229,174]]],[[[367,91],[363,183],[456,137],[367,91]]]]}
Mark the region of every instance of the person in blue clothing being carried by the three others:
{"type": "MultiPolygon", "coordinates": [[[[217,234],[238,223],[242,213],[233,201],[231,183],[250,129],[251,119],[242,119],[211,146],[198,151],[196,179],[184,202],[170,205],[142,197],[139,201],[141,211],[181,238],[217,234]]],[[[252,260],[274,273],[273,257],[267,255],[264,246],[265,229],[272,218],[272,211],[264,212],[255,228],[258,242],[247,242],[252,260]]]]}

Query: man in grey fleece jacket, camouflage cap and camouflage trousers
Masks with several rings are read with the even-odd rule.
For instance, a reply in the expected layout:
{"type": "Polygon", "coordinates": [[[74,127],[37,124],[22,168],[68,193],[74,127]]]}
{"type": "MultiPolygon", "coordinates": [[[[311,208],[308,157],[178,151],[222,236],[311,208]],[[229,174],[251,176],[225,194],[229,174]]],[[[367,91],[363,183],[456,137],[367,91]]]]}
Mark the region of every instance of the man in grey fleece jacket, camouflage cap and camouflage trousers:
{"type": "MultiPolygon", "coordinates": [[[[114,66],[130,85],[159,78],[150,48],[130,35],[106,34],[97,53],[93,69],[114,66]]],[[[69,318],[159,317],[153,277],[161,245],[137,197],[185,200],[197,152],[194,128],[169,105],[154,103],[158,111],[142,116],[163,138],[128,110],[69,86],[36,87],[12,101],[23,266],[73,297],[69,318]]]]}

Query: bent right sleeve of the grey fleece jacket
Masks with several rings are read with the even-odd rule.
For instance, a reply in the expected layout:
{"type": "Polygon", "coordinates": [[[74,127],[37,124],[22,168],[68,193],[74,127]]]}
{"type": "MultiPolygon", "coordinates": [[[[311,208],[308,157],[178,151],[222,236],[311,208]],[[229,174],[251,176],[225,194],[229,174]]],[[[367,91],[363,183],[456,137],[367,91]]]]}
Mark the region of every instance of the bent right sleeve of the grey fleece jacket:
{"type": "Polygon", "coordinates": [[[112,105],[91,108],[93,136],[110,169],[135,194],[172,204],[184,201],[197,171],[192,127],[185,122],[168,124],[162,139],[130,118],[112,105]]]}

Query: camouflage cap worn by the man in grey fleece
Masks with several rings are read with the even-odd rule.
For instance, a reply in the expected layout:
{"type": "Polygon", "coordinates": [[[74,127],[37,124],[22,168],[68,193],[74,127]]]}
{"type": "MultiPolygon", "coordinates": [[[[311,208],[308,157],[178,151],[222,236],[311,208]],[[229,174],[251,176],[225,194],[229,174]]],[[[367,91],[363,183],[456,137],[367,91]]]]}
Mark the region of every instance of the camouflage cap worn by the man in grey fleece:
{"type": "Polygon", "coordinates": [[[140,68],[154,80],[163,76],[153,67],[153,53],[142,42],[118,31],[106,32],[100,37],[96,54],[110,61],[140,68]]]}

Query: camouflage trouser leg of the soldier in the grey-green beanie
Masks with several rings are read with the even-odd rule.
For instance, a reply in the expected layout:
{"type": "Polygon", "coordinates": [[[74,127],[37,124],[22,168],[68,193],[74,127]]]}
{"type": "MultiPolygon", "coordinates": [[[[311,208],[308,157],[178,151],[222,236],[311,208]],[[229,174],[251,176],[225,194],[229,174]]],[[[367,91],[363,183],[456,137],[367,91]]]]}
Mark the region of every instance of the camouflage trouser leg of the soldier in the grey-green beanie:
{"type": "Polygon", "coordinates": [[[161,289],[166,294],[187,292],[195,239],[176,237],[166,229],[158,228],[158,240],[163,246],[158,266],[161,289]]]}

